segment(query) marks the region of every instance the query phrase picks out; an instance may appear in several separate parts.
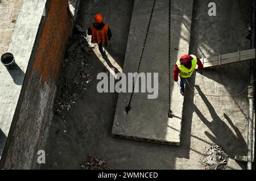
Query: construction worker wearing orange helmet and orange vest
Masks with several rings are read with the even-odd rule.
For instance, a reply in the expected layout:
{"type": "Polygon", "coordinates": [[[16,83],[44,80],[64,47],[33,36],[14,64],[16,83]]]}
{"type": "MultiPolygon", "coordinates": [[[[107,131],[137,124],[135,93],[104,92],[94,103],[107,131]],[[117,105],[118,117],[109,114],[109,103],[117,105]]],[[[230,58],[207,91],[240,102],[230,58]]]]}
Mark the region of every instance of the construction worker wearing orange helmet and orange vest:
{"type": "Polygon", "coordinates": [[[112,38],[112,33],[107,23],[103,23],[103,16],[101,14],[94,15],[94,23],[90,25],[87,30],[88,35],[92,35],[92,43],[98,44],[102,56],[106,56],[103,50],[104,47],[108,47],[108,43],[112,38]]]}

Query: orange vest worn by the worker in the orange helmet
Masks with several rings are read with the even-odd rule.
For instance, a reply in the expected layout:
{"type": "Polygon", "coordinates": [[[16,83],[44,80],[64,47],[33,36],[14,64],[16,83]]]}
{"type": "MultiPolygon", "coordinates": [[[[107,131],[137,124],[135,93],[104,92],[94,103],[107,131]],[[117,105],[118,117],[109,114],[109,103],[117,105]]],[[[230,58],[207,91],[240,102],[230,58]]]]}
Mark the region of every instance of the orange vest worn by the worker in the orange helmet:
{"type": "Polygon", "coordinates": [[[93,25],[90,26],[90,30],[92,30],[92,43],[100,44],[102,43],[108,43],[108,29],[109,26],[107,23],[105,23],[102,30],[96,30],[96,28],[93,27],[93,25]]]}

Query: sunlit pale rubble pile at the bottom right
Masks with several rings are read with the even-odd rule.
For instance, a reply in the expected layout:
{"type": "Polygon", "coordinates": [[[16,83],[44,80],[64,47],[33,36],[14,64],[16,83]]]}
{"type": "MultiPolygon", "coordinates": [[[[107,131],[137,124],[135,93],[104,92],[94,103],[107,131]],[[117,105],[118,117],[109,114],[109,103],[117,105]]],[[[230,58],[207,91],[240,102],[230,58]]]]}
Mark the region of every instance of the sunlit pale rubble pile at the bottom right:
{"type": "Polygon", "coordinates": [[[225,170],[228,164],[228,155],[218,145],[211,145],[200,160],[204,170],[225,170]]]}

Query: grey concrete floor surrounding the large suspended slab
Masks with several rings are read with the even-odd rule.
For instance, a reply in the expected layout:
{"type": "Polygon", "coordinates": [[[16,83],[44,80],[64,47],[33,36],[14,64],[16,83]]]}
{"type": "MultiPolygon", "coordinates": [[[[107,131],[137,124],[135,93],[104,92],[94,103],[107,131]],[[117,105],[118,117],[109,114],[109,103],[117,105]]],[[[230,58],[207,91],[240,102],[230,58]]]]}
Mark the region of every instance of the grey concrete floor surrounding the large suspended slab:
{"type": "MultiPolygon", "coordinates": [[[[241,2],[244,1],[230,5],[228,0],[216,1],[217,16],[209,17],[208,1],[195,0],[189,53],[209,56],[250,48],[250,41],[245,39],[250,14],[243,13],[250,3],[243,7],[241,2]]],[[[85,28],[92,23],[95,12],[106,16],[114,35],[109,53],[120,66],[125,57],[132,9],[133,1],[126,0],[109,1],[108,5],[105,1],[81,2],[79,23],[85,28]]],[[[96,69],[93,77],[104,71],[100,59],[98,51],[90,58],[96,69]]],[[[248,68],[245,62],[204,70],[203,75],[195,75],[196,81],[191,81],[191,85],[208,94],[237,94],[247,86],[248,68]]],[[[246,154],[246,93],[234,98],[209,98],[191,96],[187,89],[181,145],[170,146],[113,138],[118,94],[99,94],[97,83],[95,78],[90,82],[86,98],[79,100],[68,115],[68,126],[55,116],[42,169],[80,169],[79,163],[88,154],[105,159],[109,169],[202,169],[199,160],[211,143],[223,146],[230,155],[246,154]]],[[[245,169],[245,164],[230,159],[228,169],[245,169]]]]}

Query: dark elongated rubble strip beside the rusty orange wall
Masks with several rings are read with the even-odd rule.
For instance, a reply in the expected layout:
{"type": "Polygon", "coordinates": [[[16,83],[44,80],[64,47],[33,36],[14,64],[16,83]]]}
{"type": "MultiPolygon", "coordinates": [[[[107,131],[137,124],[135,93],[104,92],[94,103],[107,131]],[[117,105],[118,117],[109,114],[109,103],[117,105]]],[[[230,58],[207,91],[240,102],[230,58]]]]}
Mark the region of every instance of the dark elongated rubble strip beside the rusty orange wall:
{"type": "Polygon", "coordinates": [[[93,78],[93,66],[88,63],[88,57],[93,50],[89,48],[85,35],[74,33],[69,39],[68,47],[53,109],[62,118],[64,112],[70,111],[76,100],[84,95],[86,86],[93,78]]]}

